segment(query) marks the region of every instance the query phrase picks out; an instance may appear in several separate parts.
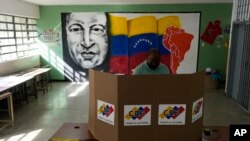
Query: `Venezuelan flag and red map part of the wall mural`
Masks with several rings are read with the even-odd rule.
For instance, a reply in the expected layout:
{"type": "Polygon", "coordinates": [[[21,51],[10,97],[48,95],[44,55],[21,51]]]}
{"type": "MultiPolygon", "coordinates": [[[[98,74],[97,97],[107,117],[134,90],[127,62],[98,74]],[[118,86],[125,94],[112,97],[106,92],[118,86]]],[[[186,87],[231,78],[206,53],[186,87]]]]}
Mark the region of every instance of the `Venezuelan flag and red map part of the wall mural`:
{"type": "Polygon", "coordinates": [[[110,72],[131,74],[150,48],[173,74],[194,73],[198,60],[199,13],[109,13],[110,72]]]}

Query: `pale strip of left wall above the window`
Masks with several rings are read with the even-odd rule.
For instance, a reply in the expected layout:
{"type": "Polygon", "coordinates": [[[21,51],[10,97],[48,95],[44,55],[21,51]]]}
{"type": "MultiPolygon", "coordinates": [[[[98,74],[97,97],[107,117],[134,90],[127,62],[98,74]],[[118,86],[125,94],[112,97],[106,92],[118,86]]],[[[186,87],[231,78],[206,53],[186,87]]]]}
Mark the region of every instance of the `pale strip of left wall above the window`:
{"type": "Polygon", "coordinates": [[[39,6],[21,0],[1,0],[0,13],[24,16],[30,18],[39,18],[39,6]]]}

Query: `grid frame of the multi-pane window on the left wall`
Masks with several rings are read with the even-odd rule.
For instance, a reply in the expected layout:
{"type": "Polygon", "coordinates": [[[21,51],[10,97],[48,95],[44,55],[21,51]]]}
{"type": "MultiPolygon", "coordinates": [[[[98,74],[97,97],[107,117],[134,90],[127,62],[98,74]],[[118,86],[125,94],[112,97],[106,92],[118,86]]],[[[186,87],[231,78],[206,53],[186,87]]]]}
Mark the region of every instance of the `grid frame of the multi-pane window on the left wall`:
{"type": "Polygon", "coordinates": [[[0,24],[3,24],[4,28],[0,28],[0,32],[7,32],[7,36],[6,37],[0,37],[0,42],[1,40],[6,40],[8,41],[8,43],[2,45],[0,43],[0,63],[1,62],[5,62],[5,61],[10,61],[10,60],[14,60],[14,59],[19,59],[21,57],[26,57],[26,56],[30,56],[33,54],[34,50],[38,50],[38,48],[34,48],[33,45],[36,44],[35,39],[38,38],[38,33],[37,33],[37,19],[36,18],[29,18],[29,17],[22,17],[22,16],[14,16],[14,15],[7,15],[7,14],[1,14],[0,16],[3,16],[3,21],[0,21],[0,24]],[[8,21],[7,17],[11,17],[12,22],[8,21]],[[19,21],[15,21],[15,19],[20,18],[19,21]],[[30,20],[34,20],[34,22],[30,22],[30,20]],[[25,21],[25,23],[23,23],[25,21]],[[5,24],[5,25],[4,25],[5,24]],[[9,26],[12,25],[13,27],[11,29],[9,29],[9,26]],[[21,29],[16,29],[16,25],[20,25],[21,29]],[[23,29],[23,27],[25,27],[23,29]],[[29,29],[29,27],[32,27],[31,29],[29,29]],[[35,28],[35,30],[34,30],[35,28]],[[9,36],[9,32],[13,32],[13,36],[9,36]],[[17,33],[20,32],[21,36],[17,37],[17,33]],[[24,34],[25,33],[25,34],[24,34]],[[36,33],[36,36],[34,36],[34,33],[36,33]],[[30,34],[33,34],[33,36],[30,36],[30,34]],[[25,36],[24,36],[25,35],[25,36]],[[14,39],[14,44],[10,44],[10,40],[14,39]],[[21,39],[21,43],[18,43],[17,41],[21,39]],[[30,40],[33,40],[32,42],[30,42],[30,40]],[[26,42],[25,42],[26,41],[26,42]],[[15,47],[15,51],[13,50],[13,46],[15,47]],[[21,50],[20,46],[22,46],[21,50]],[[26,46],[26,47],[24,47],[26,46]],[[3,48],[6,47],[11,47],[11,49],[9,49],[8,52],[2,52],[3,48]],[[32,48],[31,48],[32,47],[32,48]],[[28,52],[28,54],[26,54],[28,52]],[[15,53],[15,57],[10,57],[12,56],[12,54],[15,53]],[[9,55],[7,55],[9,54],[9,55]],[[19,54],[22,54],[19,56],[19,54]],[[6,59],[4,56],[9,56],[8,59],[6,59]]]}

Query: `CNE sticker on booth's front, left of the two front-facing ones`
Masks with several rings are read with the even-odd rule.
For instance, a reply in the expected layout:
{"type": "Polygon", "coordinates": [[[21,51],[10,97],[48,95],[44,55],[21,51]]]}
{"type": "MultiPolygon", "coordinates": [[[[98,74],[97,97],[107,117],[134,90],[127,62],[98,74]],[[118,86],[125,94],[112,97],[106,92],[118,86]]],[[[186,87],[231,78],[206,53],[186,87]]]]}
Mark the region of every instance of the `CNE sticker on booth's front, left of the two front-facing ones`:
{"type": "Polygon", "coordinates": [[[151,125],[151,105],[124,105],[124,126],[151,125]]]}

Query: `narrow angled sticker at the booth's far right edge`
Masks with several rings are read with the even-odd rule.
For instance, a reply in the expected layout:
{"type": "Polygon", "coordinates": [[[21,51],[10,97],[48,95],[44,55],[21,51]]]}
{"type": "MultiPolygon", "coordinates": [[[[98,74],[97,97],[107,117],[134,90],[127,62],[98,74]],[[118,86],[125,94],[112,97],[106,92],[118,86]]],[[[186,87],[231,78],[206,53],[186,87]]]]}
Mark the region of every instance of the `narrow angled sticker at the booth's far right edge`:
{"type": "Polygon", "coordinates": [[[202,117],[203,98],[196,100],[192,107],[192,123],[202,117]]]}

